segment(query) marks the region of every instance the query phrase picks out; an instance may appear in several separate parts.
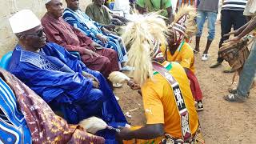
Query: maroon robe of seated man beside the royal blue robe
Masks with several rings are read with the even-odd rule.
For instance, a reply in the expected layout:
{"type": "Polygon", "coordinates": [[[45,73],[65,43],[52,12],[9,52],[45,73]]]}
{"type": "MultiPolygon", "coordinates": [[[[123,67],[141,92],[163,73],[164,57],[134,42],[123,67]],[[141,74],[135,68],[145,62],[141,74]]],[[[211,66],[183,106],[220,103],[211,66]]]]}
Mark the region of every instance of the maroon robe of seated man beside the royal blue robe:
{"type": "Polygon", "coordinates": [[[92,70],[100,71],[105,78],[112,71],[118,71],[118,54],[111,49],[96,50],[95,52],[100,56],[98,58],[91,58],[90,55],[85,54],[85,49],[94,50],[90,44],[94,41],[87,37],[80,30],[70,26],[63,18],[53,18],[46,13],[42,20],[42,26],[46,33],[47,41],[55,42],[63,46],[68,51],[78,51],[82,57],[82,62],[92,70]]]}

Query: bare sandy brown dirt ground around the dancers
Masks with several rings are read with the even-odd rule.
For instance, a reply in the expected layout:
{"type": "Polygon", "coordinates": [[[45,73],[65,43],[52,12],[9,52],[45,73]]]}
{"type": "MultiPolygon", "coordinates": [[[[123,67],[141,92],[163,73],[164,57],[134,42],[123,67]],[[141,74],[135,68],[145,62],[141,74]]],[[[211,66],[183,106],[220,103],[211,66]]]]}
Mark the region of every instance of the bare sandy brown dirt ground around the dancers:
{"type": "MultiPolygon", "coordinates": [[[[206,24],[205,24],[206,25],[206,24]]],[[[206,143],[256,143],[256,90],[250,90],[250,98],[245,103],[231,103],[223,100],[228,94],[233,74],[224,74],[222,70],[226,62],[216,69],[210,69],[211,63],[216,61],[218,42],[220,39],[220,25],[216,26],[214,42],[210,47],[208,61],[201,60],[202,54],[196,54],[196,75],[203,93],[204,110],[198,112],[202,133],[206,143]]],[[[207,29],[204,28],[200,48],[206,46],[207,29]]],[[[194,38],[191,44],[194,48],[194,38]]],[[[131,118],[127,118],[131,125],[143,125],[146,118],[142,107],[142,98],[135,90],[126,85],[115,89],[114,93],[120,98],[119,103],[124,113],[130,110],[131,118]]]]}

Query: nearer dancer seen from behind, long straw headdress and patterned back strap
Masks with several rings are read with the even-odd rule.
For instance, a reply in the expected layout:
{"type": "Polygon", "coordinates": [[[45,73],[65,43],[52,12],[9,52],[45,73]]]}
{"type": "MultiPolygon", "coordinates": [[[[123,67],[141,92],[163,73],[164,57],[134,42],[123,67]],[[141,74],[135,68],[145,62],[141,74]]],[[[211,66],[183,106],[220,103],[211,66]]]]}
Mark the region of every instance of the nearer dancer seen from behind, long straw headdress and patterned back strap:
{"type": "Polygon", "coordinates": [[[133,17],[123,39],[130,45],[131,74],[141,86],[146,125],[122,128],[118,138],[130,140],[124,143],[204,143],[186,72],[177,62],[166,62],[160,50],[166,23],[158,14],[133,17]]]}

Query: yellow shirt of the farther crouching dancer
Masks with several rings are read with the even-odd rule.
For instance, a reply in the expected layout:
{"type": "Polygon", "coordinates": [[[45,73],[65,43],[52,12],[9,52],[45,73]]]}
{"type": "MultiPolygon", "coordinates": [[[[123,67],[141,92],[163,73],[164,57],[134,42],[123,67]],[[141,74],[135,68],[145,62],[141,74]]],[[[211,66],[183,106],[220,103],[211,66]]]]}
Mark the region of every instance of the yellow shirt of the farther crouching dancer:
{"type": "Polygon", "coordinates": [[[160,47],[162,53],[165,55],[167,54],[167,59],[166,61],[169,62],[178,62],[182,65],[182,67],[190,69],[193,73],[195,71],[194,68],[194,52],[191,46],[187,43],[184,42],[183,46],[181,47],[180,50],[176,50],[174,55],[170,54],[170,50],[167,49],[166,51],[166,46],[162,45],[160,47]],[[166,51],[166,53],[165,53],[166,51]]]}

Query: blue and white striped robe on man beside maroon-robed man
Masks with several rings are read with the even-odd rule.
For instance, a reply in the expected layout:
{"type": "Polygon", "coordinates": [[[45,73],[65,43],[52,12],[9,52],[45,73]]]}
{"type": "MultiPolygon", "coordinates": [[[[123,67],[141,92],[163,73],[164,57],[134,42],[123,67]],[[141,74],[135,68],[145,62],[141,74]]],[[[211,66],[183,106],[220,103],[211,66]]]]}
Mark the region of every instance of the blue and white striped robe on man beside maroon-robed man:
{"type": "Polygon", "coordinates": [[[71,26],[81,30],[86,36],[92,38],[94,42],[117,51],[119,62],[127,62],[127,51],[122,38],[114,34],[103,34],[101,30],[102,26],[91,20],[86,13],[82,12],[82,10],[74,11],[66,8],[66,10],[64,10],[63,19],[71,26]],[[109,39],[109,42],[103,44],[97,38],[97,34],[105,35],[109,39]]]}

